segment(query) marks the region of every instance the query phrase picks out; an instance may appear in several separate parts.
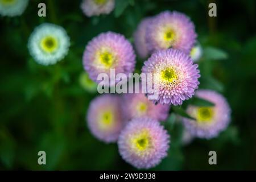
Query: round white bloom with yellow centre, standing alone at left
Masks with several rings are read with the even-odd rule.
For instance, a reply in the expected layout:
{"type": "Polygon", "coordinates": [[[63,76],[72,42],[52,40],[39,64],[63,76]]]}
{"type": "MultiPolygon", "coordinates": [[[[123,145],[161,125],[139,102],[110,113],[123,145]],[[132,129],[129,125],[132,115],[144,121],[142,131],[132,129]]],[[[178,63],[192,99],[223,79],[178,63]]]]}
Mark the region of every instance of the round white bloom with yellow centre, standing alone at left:
{"type": "Polygon", "coordinates": [[[36,27],[28,40],[31,56],[43,65],[55,64],[63,59],[68,53],[69,45],[69,36],[64,28],[51,23],[36,27]]]}

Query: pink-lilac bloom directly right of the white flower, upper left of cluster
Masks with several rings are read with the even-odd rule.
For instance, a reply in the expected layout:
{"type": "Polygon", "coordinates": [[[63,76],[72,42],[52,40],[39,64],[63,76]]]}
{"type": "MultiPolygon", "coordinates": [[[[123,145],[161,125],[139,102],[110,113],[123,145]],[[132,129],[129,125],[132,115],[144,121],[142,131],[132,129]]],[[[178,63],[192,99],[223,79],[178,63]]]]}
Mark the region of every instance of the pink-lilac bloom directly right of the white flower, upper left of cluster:
{"type": "Polygon", "coordinates": [[[106,73],[110,77],[110,69],[114,69],[115,74],[132,73],[135,67],[135,54],[130,42],[123,35],[106,32],[88,43],[83,63],[90,78],[101,82],[97,80],[98,74],[106,73]]]}

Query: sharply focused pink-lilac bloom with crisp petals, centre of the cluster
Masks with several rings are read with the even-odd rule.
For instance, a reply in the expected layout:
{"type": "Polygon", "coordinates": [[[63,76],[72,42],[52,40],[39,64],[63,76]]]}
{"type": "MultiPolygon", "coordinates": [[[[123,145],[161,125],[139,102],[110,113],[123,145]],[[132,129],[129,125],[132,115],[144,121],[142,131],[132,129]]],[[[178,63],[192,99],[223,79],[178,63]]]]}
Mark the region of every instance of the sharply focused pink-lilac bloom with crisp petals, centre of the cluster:
{"type": "Polygon", "coordinates": [[[148,96],[160,104],[181,105],[193,96],[199,85],[198,65],[191,57],[177,49],[156,51],[144,62],[143,73],[152,74],[152,87],[148,96]]]}

